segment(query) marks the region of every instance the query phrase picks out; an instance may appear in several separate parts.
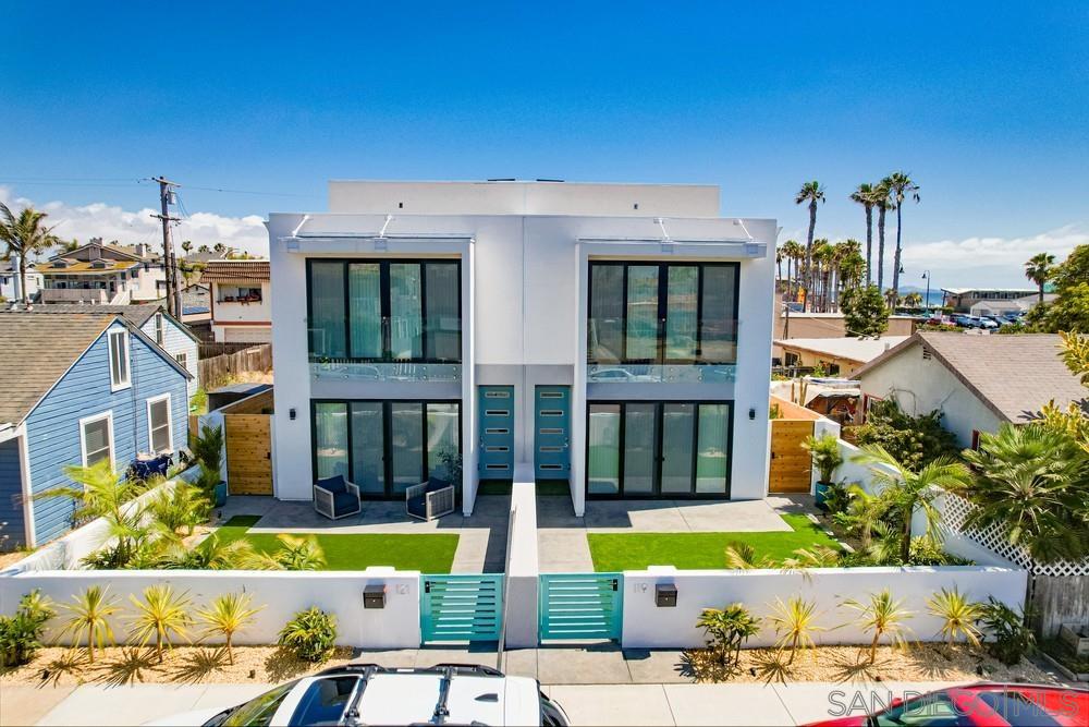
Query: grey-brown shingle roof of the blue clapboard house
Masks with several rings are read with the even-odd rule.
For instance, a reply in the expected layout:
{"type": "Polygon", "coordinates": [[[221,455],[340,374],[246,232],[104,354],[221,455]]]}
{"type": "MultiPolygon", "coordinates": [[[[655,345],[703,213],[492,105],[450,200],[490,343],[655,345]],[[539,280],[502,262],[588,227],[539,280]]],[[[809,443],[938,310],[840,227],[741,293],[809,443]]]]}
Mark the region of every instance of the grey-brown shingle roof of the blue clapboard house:
{"type": "Polygon", "coordinates": [[[0,313],[0,423],[23,421],[115,315],[0,313]]]}

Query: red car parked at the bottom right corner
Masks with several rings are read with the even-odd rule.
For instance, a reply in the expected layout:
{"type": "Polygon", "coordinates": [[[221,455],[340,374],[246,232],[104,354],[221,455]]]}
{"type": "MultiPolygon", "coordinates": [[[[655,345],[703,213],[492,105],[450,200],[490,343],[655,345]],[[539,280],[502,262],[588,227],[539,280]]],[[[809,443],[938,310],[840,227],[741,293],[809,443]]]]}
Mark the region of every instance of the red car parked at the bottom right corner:
{"type": "Polygon", "coordinates": [[[848,715],[810,727],[1005,727],[1089,724],[1089,690],[1039,684],[978,683],[893,700],[872,714],[848,715]]]}

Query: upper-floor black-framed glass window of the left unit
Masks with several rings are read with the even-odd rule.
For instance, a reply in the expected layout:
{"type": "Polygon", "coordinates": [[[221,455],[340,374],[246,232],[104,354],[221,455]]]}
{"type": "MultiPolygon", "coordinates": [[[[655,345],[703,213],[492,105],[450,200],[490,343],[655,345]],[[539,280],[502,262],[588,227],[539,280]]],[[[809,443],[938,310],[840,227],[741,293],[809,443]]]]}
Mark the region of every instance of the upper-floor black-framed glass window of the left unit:
{"type": "Polygon", "coordinates": [[[308,265],[311,361],[461,361],[457,260],[311,259],[308,265]]]}

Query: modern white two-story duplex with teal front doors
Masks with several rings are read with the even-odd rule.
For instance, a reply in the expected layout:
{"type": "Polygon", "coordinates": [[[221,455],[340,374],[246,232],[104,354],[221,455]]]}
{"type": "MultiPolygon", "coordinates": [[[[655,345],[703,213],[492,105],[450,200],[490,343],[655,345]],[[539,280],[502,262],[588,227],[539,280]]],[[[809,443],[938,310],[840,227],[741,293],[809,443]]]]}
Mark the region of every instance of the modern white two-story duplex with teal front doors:
{"type": "Polygon", "coordinates": [[[775,221],[717,186],[330,183],[272,214],[274,488],[371,498],[463,456],[588,498],[763,497],[775,221]],[[554,485],[553,485],[554,486],[554,485]]]}

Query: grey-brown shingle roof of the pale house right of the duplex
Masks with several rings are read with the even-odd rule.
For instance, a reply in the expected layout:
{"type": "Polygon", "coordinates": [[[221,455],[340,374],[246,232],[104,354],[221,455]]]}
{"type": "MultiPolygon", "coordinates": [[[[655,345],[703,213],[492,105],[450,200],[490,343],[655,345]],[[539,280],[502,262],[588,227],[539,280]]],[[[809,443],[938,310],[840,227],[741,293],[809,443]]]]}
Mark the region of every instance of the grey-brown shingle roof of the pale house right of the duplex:
{"type": "Polygon", "coordinates": [[[1062,339],[1054,334],[971,336],[921,331],[858,369],[854,378],[865,376],[916,342],[921,342],[991,411],[1008,422],[1035,419],[1051,400],[1063,409],[1078,403],[1089,411],[1089,395],[1060,358],[1062,339]]]}

